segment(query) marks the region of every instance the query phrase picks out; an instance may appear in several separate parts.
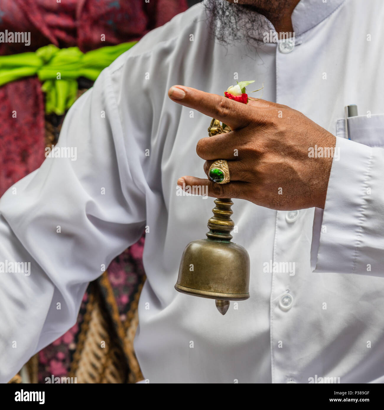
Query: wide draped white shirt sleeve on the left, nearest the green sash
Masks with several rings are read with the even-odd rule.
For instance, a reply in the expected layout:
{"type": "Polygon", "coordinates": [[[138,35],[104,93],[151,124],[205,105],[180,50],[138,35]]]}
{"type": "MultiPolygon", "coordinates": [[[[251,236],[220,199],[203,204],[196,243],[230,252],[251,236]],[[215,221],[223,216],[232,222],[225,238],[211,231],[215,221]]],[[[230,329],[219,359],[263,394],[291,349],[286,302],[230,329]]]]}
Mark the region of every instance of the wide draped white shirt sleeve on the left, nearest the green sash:
{"type": "Polygon", "coordinates": [[[129,113],[122,126],[107,68],[69,110],[61,157],[2,196],[1,383],[74,325],[88,282],[142,234],[144,153],[135,132],[129,113]]]}

